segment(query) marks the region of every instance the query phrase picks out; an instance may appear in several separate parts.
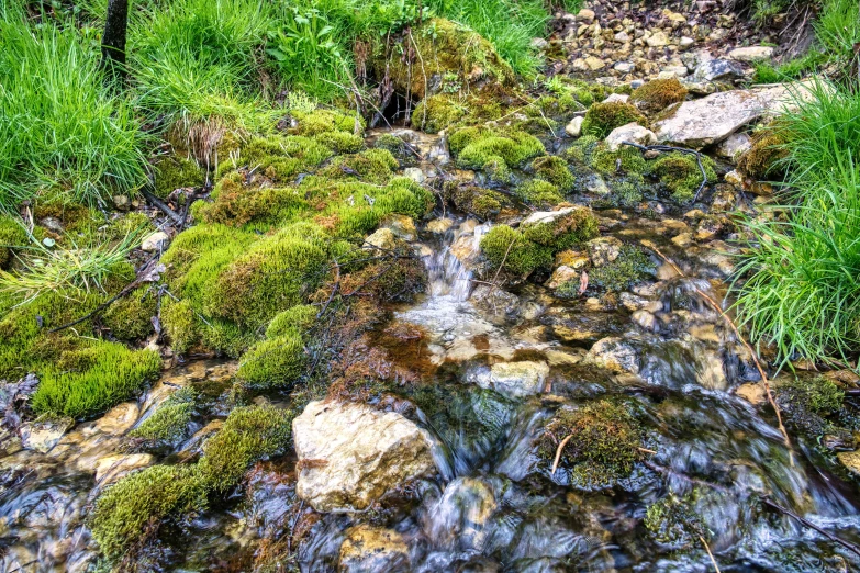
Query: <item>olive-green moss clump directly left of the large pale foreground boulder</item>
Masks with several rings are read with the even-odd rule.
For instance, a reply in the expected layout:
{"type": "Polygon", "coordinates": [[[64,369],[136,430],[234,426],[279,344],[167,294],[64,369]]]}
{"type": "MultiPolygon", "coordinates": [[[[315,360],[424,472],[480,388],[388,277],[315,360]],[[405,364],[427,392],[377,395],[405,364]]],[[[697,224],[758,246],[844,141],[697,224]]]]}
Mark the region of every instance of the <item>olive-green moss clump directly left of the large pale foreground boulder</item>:
{"type": "Polygon", "coordinates": [[[200,476],[206,486],[225,492],[255,462],[282,451],[290,440],[294,412],[272,406],[238,407],[224,427],[203,446],[200,476]]]}

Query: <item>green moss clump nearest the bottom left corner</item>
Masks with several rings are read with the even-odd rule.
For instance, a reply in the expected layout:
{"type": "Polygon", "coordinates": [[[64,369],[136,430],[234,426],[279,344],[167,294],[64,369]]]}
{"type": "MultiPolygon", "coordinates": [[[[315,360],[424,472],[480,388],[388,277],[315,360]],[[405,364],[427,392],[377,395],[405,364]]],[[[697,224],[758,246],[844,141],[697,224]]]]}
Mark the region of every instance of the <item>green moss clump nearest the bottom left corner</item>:
{"type": "Polygon", "coordinates": [[[154,465],[123,478],[98,498],[90,516],[92,538],[109,560],[119,560],[154,538],[165,518],[205,505],[197,468],[154,465]]]}

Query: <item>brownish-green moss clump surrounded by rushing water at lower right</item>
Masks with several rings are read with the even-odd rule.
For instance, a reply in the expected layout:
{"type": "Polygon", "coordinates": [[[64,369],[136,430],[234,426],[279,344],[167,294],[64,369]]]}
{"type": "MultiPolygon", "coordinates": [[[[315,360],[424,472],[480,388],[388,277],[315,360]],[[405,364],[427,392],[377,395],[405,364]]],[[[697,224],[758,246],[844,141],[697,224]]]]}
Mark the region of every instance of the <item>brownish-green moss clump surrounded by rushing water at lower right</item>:
{"type": "Polygon", "coordinates": [[[643,457],[643,428],[628,407],[615,401],[556,412],[538,440],[538,457],[551,464],[558,445],[568,436],[559,467],[570,472],[574,486],[611,486],[629,475],[643,457]]]}

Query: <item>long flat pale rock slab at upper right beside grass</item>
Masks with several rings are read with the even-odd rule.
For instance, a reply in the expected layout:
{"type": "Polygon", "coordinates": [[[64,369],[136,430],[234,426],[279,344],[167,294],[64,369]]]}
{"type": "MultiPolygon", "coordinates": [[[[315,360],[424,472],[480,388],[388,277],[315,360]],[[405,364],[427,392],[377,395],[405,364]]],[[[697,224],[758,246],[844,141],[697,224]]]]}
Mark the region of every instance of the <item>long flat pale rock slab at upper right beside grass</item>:
{"type": "Polygon", "coordinates": [[[685,101],[654,124],[659,142],[702,148],[722,142],[741,126],[789,109],[792,97],[808,93],[802,83],[713,93],[685,101]]]}

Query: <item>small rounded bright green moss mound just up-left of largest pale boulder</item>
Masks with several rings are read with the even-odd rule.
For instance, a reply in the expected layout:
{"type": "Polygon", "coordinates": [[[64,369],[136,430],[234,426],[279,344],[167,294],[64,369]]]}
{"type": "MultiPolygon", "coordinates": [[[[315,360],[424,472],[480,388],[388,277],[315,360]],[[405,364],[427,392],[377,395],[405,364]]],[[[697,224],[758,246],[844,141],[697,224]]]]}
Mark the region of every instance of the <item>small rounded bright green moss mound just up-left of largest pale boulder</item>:
{"type": "Polygon", "coordinates": [[[286,329],[250,347],[236,375],[253,387],[283,387],[302,374],[305,358],[299,329],[286,329]]]}

